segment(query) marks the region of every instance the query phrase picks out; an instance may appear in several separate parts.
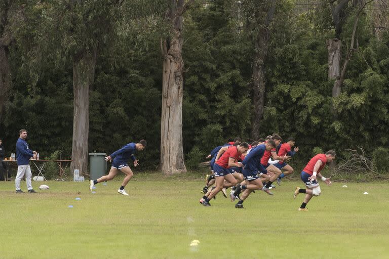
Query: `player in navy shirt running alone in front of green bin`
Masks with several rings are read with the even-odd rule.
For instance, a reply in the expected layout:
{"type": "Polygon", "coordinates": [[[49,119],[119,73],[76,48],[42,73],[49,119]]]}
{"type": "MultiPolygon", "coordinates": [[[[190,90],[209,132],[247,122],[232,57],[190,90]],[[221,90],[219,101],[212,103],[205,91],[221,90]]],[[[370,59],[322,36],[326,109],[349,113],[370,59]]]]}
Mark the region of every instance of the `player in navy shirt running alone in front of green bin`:
{"type": "Polygon", "coordinates": [[[134,173],[132,172],[130,166],[128,166],[127,161],[131,158],[134,163],[134,166],[138,166],[139,163],[138,160],[135,158],[134,154],[136,151],[142,151],[143,149],[145,149],[146,145],[147,143],[145,140],[141,140],[139,141],[139,143],[132,142],[127,145],[124,145],[121,149],[116,150],[109,156],[106,156],[105,161],[111,162],[113,159],[109,174],[107,176],[100,177],[97,180],[91,180],[89,190],[92,192],[93,186],[101,182],[112,180],[118,174],[119,171],[122,171],[126,175],[126,177],[124,178],[122,186],[119,188],[118,193],[128,196],[124,188],[131,180],[134,173]]]}

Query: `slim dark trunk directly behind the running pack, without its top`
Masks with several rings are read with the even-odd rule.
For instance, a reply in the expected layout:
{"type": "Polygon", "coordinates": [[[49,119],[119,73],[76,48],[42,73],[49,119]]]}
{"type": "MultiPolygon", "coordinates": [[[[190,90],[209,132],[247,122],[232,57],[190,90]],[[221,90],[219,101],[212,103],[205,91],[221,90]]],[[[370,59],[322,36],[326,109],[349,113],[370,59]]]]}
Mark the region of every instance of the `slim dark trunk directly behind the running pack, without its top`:
{"type": "Polygon", "coordinates": [[[255,57],[253,62],[253,103],[254,103],[254,115],[252,120],[252,133],[253,139],[259,139],[260,132],[259,126],[263,118],[264,106],[265,106],[265,59],[268,50],[269,33],[267,30],[263,30],[262,35],[258,36],[255,42],[255,57]]]}

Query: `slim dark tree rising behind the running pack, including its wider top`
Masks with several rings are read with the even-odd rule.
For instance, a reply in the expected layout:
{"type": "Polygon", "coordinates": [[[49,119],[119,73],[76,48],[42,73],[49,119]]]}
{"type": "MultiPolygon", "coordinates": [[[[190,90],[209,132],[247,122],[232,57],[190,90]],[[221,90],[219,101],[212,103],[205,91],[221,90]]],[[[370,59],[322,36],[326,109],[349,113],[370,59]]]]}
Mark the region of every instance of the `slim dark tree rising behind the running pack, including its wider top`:
{"type": "Polygon", "coordinates": [[[270,23],[276,12],[277,1],[246,1],[242,7],[250,34],[254,41],[252,93],[254,112],[252,116],[253,139],[260,137],[260,123],[265,104],[265,60],[270,44],[270,23]]]}

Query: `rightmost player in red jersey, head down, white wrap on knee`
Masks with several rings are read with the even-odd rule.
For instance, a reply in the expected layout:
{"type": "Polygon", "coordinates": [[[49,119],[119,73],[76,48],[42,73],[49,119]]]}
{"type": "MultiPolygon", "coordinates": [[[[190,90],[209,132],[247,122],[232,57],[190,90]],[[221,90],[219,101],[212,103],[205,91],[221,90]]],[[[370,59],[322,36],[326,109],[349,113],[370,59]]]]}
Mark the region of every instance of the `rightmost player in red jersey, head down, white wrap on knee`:
{"type": "Polygon", "coordinates": [[[301,172],[301,180],[304,182],[306,189],[301,189],[300,187],[296,187],[294,191],[293,198],[299,193],[305,193],[304,202],[298,208],[298,210],[307,210],[305,208],[306,204],[312,198],[312,196],[320,196],[321,190],[319,183],[316,181],[316,177],[319,176],[323,182],[325,182],[328,186],[331,185],[330,178],[325,178],[320,174],[320,171],[324,168],[324,166],[334,160],[336,157],[336,153],[333,150],[327,151],[325,154],[317,154],[313,158],[309,160],[304,169],[301,172]]]}

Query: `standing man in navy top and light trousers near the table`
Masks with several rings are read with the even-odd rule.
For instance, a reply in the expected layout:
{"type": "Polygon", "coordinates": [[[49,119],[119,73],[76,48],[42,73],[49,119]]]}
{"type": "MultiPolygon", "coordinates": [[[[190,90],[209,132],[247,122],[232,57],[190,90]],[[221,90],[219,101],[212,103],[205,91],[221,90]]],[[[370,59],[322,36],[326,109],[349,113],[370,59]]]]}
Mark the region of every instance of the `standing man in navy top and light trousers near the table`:
{"type": "Polygon", "coordinates": [[[34,189],[32,189],[31,185],[31,168],[30,168],[30,158],[33,157],[36,159],[36,152],[32,151],[28,148],[28,144],[26,142],[27,131],[20,130],[19,131],[19,139],[16,142],[16,159],[18,161],[18,174],[15,178],[15,187],[16,192],[23,192],[20,189],[20,181],[23,179],[24,174],[26,175],[26,183],[28,192],[34,193],[34,189]]]}

